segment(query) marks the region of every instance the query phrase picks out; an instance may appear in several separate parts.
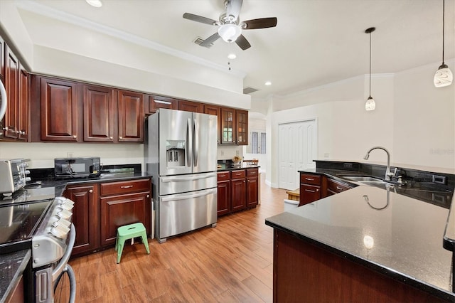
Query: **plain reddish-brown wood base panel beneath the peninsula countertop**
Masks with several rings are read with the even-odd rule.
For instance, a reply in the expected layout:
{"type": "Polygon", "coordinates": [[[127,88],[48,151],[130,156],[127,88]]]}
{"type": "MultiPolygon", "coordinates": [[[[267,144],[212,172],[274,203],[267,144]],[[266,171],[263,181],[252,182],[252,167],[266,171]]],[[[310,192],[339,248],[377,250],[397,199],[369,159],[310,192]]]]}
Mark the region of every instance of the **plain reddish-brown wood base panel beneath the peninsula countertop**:
{"type": "Polygon", "coordinates": [[[273,302],[444,301],[275,229],[273,302]]]}

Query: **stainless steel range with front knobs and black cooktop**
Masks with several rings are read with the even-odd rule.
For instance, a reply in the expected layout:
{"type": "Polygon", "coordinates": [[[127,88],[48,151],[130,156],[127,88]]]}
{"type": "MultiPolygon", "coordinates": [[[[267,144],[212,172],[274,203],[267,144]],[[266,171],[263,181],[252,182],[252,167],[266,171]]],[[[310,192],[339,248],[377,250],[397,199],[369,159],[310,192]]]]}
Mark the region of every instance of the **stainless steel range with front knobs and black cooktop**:
{"type": "Polygon", "coordinates": [[[0,255],[31,250],[24,275],[26,302],[53,302],[63,273],[70,280],[70,302],[75,299],[75,275],[68,260],[75,242],[74,202],[55,197],[55,189],[31,188],[0,198],[0,255]]]}

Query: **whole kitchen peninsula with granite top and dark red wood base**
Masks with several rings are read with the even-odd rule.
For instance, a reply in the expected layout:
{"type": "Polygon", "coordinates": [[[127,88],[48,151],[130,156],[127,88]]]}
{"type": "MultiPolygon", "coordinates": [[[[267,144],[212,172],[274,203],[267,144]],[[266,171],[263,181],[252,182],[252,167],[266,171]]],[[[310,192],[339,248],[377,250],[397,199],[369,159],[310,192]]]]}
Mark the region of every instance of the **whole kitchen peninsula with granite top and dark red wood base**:
{"type": "MultiPolygon", "coordinates": [[[[348,172],[301,171],[338,181],[348,172]]],[[[452,198],[453,188],[351,185],[266,219],[274,228],[274,302],[454,302],[453,252],[443,248],[450,201],[425,198],[452,198]]]]}

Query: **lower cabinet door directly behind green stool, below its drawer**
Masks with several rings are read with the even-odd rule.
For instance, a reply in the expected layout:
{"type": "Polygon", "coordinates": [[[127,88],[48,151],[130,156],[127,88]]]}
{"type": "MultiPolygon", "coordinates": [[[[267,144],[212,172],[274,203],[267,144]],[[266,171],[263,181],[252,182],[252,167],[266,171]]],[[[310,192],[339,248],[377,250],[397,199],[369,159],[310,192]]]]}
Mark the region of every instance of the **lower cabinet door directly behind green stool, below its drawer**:
{"type": "Polygon", "coordinates": [[[151,234],[151,203],[149,193],[107,196],[101,203],[101,245],[115,244],[117,228],[141,222],[151,234]]]}

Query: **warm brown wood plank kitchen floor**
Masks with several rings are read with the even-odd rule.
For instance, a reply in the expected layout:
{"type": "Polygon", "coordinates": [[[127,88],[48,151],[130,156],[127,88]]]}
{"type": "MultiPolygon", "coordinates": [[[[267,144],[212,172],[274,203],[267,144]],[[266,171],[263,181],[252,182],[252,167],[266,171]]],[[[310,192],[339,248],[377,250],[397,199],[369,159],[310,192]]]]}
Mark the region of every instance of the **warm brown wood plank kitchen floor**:
{"type": "MultiPolygon", "coordinates": [[[[117,264],[114,248],[70,260],[76,302],[272,302],[273,238],[265,218],[282,213],[285,190],[261,182],[257,208],[218,218],[159,244],[126,245],[117,264]]],[[[68,278],[55,292],[68,302],[68,278]]]]}

